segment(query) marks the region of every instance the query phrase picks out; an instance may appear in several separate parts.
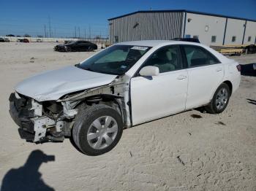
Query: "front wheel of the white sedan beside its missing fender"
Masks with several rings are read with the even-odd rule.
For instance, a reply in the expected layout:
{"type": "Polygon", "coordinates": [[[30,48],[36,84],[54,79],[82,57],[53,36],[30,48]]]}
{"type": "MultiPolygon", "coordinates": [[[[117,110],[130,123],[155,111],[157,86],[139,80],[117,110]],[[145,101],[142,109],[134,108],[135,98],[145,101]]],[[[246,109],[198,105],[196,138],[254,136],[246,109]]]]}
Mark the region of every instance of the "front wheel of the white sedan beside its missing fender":
{"type": "Polygon", "coordinates": [[[81,107],[75,117],[72,138],[86,155],[102,155],[116,146],[123,133],[123,120],[110,106],[81,107]]]}

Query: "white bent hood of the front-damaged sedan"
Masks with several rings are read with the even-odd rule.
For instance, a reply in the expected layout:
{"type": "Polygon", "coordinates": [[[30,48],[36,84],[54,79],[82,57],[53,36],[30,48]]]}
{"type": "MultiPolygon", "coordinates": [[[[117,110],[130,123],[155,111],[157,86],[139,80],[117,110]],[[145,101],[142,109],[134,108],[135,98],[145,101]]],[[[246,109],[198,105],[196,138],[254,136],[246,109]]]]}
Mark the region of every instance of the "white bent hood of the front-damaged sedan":
{"type": "Polygon", "coordinates": [[[20,82],[15,90],[37,101],[58,100],[67,93],[108,85],[116,77],[67,66],[29,77],[20,82]]]}

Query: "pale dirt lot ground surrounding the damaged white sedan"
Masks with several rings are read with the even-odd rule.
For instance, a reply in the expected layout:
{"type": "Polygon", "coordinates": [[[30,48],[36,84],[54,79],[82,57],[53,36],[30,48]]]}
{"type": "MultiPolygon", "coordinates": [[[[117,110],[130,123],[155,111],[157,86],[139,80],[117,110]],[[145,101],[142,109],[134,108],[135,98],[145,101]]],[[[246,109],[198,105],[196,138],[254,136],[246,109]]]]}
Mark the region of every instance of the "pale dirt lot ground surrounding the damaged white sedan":
{"type": "MultiPolygon", "coordinates": [[[[8,174],[12,184],[37,182],[44,190],[256,190],[255,73],[241,77],[241,87],[222,114],[192,110],[129,128],[105,155],[82,155],[69,139],[59,144],[21,140],[8,112],[13,87],[93,54],[53,52],[54,45],[0,44],[0,181],[19,168],[8,174]],[[42,163],[33,154],[26,162],[37,149],[55,161],[42,163]]],[[[256,55],[233,59],[256,63],[256,55]]]]}

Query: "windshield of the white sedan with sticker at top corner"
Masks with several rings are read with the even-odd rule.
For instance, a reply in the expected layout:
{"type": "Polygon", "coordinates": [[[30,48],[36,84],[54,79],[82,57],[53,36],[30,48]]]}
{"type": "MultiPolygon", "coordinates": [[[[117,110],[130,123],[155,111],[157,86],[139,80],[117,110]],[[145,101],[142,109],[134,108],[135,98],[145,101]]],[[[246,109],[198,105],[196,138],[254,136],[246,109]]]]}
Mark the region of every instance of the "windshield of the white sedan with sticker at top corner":
{"type": "Polygon", "coordinates": [[[76,66],[89,71],[121,75],[128,71],[150,48],[114,45],[76,66]]]}

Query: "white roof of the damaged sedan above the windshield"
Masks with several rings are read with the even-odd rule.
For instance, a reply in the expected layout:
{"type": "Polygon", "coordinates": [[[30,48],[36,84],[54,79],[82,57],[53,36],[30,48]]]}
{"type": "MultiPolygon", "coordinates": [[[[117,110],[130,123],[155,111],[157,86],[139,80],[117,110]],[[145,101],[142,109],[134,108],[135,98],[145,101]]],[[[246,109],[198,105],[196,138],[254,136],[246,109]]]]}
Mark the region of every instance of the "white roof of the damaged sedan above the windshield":
{"type": "Polygon", "coordinates": [[[157,47],[166,44],[193,44],[197,45],[195,42],[184,42],[184,41],[176,41],[176,40],[145,40],[145,41],[130,41],[130,42],[120,42],[120,45],[134,45],[134,46],[144,46],[144,47],[157,47]]]}

